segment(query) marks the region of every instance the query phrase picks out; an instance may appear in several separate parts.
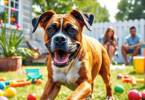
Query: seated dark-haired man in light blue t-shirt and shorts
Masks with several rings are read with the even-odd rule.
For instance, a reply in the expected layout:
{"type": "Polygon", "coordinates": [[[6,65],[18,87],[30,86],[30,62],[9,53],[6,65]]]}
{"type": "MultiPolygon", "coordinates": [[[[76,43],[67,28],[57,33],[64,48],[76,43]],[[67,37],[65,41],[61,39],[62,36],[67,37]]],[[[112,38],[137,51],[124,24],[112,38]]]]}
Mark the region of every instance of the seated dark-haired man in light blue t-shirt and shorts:
{"type": "Polygon", "coordinates": [[[124,43],[121,47],[122,55],[125,60],[125,65],[127,62],[127,53],[132,53],[132,58],[129,65],[132,65],[133,57],[140,54],[140,45],[142,44],[141,36],[136,34],[136,28],[134,26],[130,27],[130,35],[125,37],[124,43]],[[126,45],[128,43],[129,46],[126,45]]]}

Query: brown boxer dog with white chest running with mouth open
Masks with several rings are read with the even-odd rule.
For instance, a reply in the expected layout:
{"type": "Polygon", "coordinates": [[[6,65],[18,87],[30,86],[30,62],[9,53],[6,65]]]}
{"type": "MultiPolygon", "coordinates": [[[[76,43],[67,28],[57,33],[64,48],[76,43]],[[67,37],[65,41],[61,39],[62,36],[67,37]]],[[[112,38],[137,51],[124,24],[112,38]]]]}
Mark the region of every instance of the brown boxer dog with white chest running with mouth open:
{"type": "Polygon", "coordinates": [[[91,98],[97,74],[106,84],[106,100],[113,100],[108,54],[97,40],[82,34],[84,26],[91,31],[93,19],[93,14],[77,10],[64,15],[47,11],[32,19],[33,32],[38,24],[44,29],[49,50],[48,80],[40,100],[54,100],[61,85],[74,91],[65,100],[91,98]]]}

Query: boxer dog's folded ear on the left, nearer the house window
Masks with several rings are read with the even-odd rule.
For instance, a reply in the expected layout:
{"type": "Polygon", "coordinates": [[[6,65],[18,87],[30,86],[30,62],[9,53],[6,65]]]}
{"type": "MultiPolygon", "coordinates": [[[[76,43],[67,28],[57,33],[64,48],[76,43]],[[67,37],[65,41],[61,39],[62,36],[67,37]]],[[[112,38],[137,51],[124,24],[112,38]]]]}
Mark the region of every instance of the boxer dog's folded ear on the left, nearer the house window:
{"type": "Polygon", "coordinates": [[[32,19],[32,26],[33,26],[33,33],[35,32],[38,24],[40,23],[40,26],[44,28],[45,24],[47,21],[49,21],[49,19],[55,14],[54,11],[49,10],[47,12],[44,12],[43,14],[41,14],[38,17],[34,17],[32,19]]]}

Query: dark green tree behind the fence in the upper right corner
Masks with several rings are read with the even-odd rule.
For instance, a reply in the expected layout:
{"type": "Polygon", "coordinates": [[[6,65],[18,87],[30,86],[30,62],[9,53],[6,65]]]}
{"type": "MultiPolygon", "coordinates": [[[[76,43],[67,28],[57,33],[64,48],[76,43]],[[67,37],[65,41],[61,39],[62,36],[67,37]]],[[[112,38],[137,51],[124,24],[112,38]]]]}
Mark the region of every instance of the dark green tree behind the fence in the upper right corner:
{"type": "Polygon", "coordinates": [[[145,19],[145,0],[121,0],[117,8],[119,10],[115,16],[117,21],[145,19]]]}

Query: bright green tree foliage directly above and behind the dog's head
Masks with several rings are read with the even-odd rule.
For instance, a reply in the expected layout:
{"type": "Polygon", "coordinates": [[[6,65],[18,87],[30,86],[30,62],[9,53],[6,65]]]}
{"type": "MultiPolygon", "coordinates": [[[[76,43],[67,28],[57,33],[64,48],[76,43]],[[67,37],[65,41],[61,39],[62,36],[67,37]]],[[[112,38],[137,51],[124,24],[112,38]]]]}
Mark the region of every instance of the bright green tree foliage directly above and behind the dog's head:
{"type": "Polygon", "coordinates": [[[40,7],[37,11],[33,7],[33,12],[40,15],[47,10],[54,10],[57,14],[67,14],[73,8],[79,11],[93,13],[94,22],[109,21],[109,14],[106,7],[101,7],[96,0],[33,0],[33,5],[40,7]]]}

